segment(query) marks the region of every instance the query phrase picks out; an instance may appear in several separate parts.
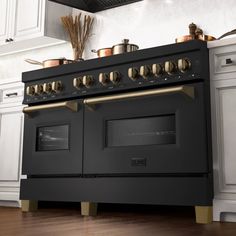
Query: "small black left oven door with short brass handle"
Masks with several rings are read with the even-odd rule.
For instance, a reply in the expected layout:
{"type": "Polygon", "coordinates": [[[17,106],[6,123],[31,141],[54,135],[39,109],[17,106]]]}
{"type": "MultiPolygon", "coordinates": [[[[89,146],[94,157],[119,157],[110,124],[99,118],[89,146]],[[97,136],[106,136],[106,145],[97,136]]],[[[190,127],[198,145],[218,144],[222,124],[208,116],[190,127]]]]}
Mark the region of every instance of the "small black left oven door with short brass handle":
{"type": "Polygon", "coordinates": [[[22,173],[82,173],[83,106],[78,100],[24,108],[22,173]]]}

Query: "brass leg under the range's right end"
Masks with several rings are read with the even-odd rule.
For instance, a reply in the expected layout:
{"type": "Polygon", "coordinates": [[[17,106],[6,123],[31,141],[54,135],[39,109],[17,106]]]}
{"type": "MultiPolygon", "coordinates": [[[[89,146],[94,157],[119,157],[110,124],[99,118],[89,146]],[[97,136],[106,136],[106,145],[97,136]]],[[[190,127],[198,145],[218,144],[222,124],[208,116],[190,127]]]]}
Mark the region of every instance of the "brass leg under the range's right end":
{"type": "Polygon", "coordinates": [[[210,224],[212,223],[212,206],[195,206],[196,223],[210,224]]]}

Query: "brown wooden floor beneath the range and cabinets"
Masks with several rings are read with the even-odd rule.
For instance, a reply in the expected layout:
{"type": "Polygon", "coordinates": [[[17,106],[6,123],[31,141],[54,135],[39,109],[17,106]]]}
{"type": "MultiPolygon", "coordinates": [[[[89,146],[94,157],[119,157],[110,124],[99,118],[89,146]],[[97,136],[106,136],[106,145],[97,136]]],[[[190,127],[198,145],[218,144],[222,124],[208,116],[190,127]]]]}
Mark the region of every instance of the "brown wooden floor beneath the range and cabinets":
{"type": "Polygon", "coordinates": [[[79,205],[42,204],[37,212],[0,207],[0,236],[234,236],[236,223],[195,224],[193,207],[99,205],[80,216],[79,205]]]}

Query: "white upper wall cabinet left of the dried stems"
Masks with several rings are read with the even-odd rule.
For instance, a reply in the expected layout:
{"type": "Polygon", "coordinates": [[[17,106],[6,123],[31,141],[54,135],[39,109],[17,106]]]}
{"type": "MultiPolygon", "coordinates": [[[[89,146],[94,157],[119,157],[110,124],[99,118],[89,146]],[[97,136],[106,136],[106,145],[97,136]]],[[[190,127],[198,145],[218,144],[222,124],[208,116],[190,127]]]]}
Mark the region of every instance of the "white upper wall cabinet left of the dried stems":
{"type": "Polygon", "coordinates": [[[48,0],[1,0],[0,55],[64,42],[60,18],[71,13],[48,0]]]}

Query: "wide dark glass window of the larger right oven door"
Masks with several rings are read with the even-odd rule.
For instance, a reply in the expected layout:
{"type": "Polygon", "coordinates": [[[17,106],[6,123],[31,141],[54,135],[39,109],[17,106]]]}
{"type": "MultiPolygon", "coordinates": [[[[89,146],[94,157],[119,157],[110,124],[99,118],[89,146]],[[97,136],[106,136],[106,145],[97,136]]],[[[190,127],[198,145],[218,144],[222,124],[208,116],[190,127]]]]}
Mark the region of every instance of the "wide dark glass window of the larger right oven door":
{"type": "Polygon", "coordinates": [[[106,146],[167,145],[176,143],[175,115],[109,120],[106,146]]]}

